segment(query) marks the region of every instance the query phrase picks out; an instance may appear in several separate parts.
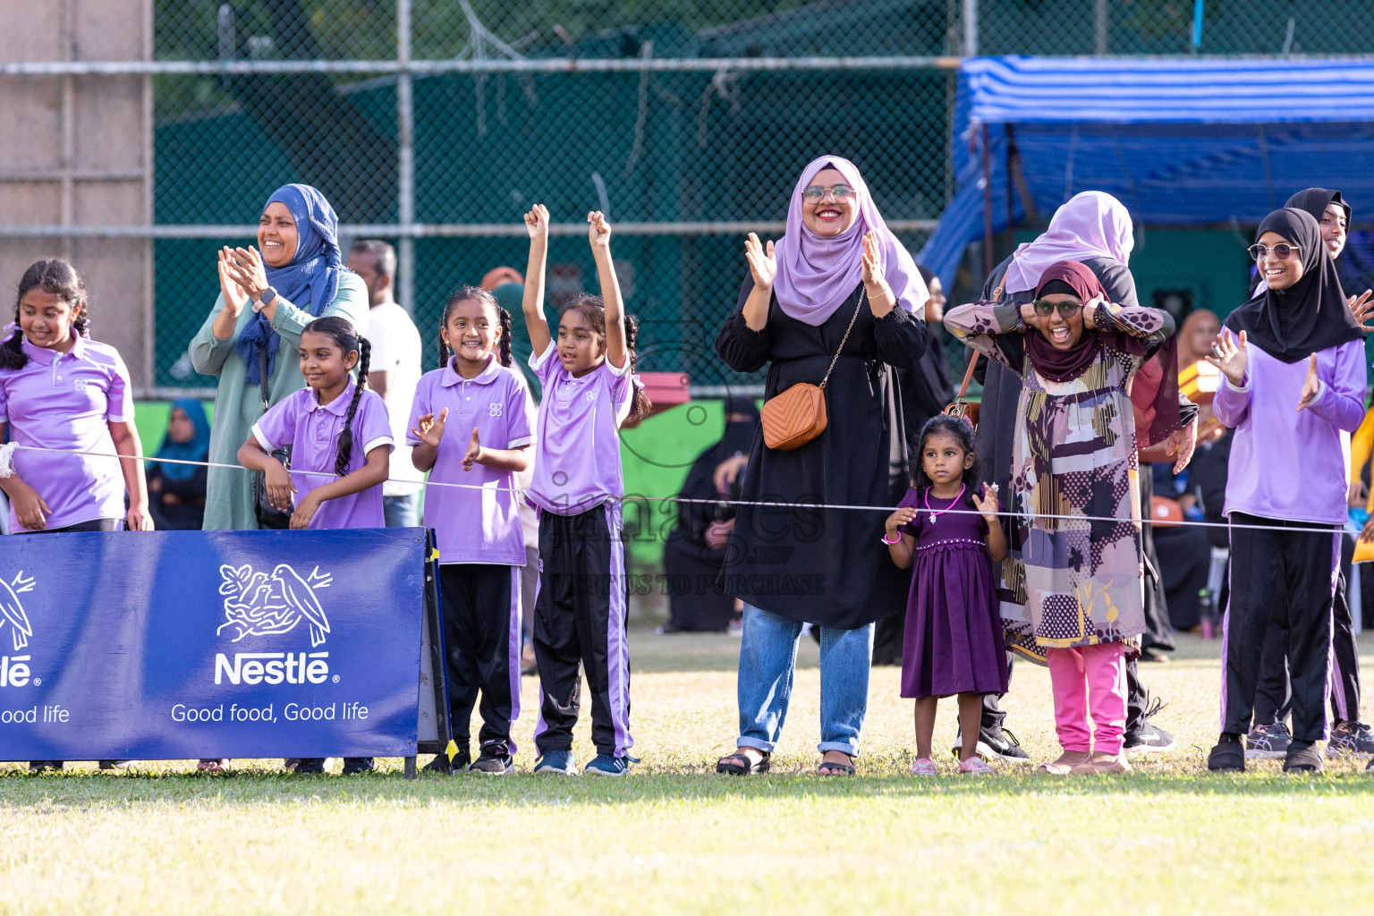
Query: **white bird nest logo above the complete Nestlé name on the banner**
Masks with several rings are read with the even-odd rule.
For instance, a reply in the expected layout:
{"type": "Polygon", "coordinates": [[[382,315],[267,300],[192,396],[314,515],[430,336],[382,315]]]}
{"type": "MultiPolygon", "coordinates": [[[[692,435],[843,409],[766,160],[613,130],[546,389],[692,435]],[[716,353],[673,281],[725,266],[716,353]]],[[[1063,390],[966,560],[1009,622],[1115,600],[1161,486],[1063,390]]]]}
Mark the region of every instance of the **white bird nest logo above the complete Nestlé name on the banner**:
{"type": "Polygon", "coordinates": [[[334,577],[315,567],[309,578],[286,563],[271,574],[254,571],[251,566],[221,566],[220,595],[224,595],[225,622],[216,633],[232,628],[234,641],[245,636],[278,636],[290,633],[302,619],[311,628],[311,645],[324,641],[330,621],[316,595],[328,588],[334,577]]]}

